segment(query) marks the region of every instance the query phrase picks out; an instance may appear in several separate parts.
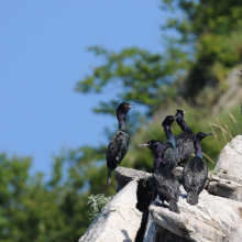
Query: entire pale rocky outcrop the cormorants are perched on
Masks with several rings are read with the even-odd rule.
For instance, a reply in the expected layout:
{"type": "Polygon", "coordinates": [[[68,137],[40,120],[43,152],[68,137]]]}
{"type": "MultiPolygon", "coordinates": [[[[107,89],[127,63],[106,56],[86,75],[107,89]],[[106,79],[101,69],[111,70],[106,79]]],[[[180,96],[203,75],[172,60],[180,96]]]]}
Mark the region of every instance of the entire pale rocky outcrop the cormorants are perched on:
{"type": "MultiPolygon", "coordinates": [[[[152,175],[118,167],[117,195],[91,223],[80,241],[94,242],[241,242],[242,241],[242,135],[222,150],[209,173],[198,205],[186,202],[180,185],[180,215],[168,204],[151,204],[152,175]]],[[[176,168],[182,183],[183,168],[176,168]]]]}

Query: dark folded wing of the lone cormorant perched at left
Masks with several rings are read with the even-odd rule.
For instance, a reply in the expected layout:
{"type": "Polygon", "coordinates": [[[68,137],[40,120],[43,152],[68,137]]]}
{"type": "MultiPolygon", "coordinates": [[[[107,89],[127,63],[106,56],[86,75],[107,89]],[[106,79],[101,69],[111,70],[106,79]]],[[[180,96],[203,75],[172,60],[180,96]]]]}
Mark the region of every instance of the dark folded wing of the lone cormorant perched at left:
{"type": "Polygon", "coordinates": [[[123,140],[124,140],[124,132],[118,130],[109,143],[106,160],[107,160],[107,166],[111,167],[112,169],[117,167],[117,156],[121,151],[123,140]]]}

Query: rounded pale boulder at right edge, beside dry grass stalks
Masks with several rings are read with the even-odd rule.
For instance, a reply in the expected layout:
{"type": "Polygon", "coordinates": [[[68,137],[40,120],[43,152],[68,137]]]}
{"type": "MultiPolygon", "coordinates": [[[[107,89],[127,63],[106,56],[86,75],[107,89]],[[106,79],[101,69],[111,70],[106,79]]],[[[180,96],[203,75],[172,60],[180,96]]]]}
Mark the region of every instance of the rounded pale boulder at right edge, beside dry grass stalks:
{"type": "Polygon", "coordinates": [[[217,162],[217,176],[242,184],[242,135],[228,143],[217,162]]]}

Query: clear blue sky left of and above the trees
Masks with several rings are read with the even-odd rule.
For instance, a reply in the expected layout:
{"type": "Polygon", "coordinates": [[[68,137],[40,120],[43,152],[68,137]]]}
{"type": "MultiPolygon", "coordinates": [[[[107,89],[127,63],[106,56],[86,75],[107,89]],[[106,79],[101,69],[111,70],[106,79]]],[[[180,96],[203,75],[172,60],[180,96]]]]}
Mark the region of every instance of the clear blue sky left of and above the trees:
{"type": "Polygon", "coordinates": [[[48,175],[63,148],[108,145],[103,128],[117,120],[91,109],[113,94],[75,91],[102,64],[87,47],[161,52],[158,7],[158,0],[1,1],[0,152],[32,156],[31,172],[48,175]]]}

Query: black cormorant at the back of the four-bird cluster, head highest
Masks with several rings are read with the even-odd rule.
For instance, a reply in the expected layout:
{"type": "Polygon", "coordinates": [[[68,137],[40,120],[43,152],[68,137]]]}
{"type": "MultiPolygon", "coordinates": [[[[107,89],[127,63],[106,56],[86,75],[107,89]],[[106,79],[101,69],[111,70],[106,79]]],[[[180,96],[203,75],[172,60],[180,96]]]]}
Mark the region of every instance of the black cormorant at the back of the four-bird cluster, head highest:
{"type": "Polygon", "coordinates": [[[176,145],[178,147],[178,156],[177,156],[177,164],[187,163],[190,156],[194,154],[194,132],[187,125],[184,120],[184,113],[186,110],[177,109],[176,122],[183,130],[183,132],[176,138],[176,145]]]}

